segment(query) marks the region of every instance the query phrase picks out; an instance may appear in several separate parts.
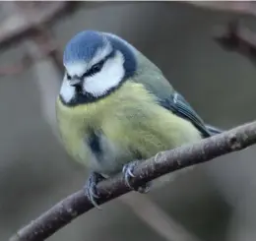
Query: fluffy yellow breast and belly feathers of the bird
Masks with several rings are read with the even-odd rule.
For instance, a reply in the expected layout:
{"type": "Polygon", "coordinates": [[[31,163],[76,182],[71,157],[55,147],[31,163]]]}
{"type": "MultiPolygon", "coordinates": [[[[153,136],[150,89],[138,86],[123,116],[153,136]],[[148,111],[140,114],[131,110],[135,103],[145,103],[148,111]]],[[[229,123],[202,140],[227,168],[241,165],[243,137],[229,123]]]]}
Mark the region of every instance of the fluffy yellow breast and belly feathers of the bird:
{"type": "Polygon", "coordinates": [[[126,82],[96,102],[69,107],[57,99],[57,119],[67,151],[100,173],[120,171],[122,164],[199,140],[188,121],[162,108],[140,84],[126,82]],[[101,158],[88,145],[99,132],[101,158]]]}

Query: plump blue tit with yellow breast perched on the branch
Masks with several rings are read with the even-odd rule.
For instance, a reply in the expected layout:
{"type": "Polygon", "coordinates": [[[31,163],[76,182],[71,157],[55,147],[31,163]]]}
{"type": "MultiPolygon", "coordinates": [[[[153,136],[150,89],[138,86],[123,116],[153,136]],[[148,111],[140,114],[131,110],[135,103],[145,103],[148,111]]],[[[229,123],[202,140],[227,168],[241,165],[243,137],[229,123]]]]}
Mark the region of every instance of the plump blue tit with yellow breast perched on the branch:
{"type": "Polygon", "coordinates": [[[94,205],[100,179],[123,171],[129,185],[138,161],[221,132],[117,35],[79,32],[67,43],[63,63],[57,121],[66,150],[92,171],[86,193],[94,205]]]}

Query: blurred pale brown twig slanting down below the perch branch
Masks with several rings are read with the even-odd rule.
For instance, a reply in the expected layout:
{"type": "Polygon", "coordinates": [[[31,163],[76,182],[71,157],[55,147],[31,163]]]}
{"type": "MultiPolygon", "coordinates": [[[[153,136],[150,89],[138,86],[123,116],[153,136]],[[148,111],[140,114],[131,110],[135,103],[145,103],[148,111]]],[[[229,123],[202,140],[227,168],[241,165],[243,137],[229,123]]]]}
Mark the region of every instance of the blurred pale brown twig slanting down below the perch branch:
{"type": "Polygon", "coordinates": [[[168,241],[200,241],[176,220],[168,216],[160,207],[145,195],[134,193],[121,197],[121,201],[168,241]]]}

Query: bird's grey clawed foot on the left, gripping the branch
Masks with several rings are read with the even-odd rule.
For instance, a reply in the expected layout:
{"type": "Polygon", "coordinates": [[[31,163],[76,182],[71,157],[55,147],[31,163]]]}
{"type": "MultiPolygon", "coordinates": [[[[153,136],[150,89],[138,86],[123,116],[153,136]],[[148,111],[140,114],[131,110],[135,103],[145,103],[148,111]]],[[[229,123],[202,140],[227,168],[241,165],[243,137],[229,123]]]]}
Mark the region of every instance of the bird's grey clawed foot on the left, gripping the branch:
{"type": "Polygon", "coordinates": [[[100,210],[98,205],[96,204],[96,199],[99,198],[96,191],[96,184],[105,178],[96,172],[92,172],[89,176],[89,179],[84,187],[86,196],[90,200],[90,202],[96,207],[96,209],[100,210]]]}

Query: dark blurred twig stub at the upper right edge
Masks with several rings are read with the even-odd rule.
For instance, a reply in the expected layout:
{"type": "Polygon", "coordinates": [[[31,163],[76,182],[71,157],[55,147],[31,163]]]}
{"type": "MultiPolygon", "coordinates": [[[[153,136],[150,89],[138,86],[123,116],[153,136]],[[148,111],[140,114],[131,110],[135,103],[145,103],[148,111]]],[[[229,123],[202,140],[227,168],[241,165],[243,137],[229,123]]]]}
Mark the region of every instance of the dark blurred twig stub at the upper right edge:
{"type": "Polygon", "coordinates": [[[236,51],[256,63],[256,33],[233,21],[215,33],[215,40],[225,49],[236,51]]]}

